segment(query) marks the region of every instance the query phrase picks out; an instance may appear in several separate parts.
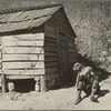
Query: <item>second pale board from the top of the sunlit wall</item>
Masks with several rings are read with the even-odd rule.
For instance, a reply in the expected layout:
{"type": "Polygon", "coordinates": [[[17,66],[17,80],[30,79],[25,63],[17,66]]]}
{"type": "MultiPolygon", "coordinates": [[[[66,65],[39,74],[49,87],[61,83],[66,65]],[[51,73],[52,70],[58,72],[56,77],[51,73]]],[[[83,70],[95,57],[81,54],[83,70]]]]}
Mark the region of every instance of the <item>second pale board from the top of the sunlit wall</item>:
{"type": "Polygon", "coordinates": [[[30,46],[30,47],[42,47],[43,46],[43,40],[36,40],[36,41],[3,41],[2,46],[30,46]]]}

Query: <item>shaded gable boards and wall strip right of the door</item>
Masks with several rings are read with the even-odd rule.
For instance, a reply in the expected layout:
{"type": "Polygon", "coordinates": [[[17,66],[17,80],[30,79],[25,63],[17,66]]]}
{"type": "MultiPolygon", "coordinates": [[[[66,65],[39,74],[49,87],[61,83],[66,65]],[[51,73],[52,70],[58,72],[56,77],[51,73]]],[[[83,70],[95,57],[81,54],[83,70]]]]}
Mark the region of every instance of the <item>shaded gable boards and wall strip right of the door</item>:
{"type": "Polygon", "coordinates": [[[70,65],[72,68],[73,63],[78,60],[78,54],[75,51],[74,38],[71,31],[71,27],[65,18],[65,14],[62,10],[59,10],[53,14],[52,19],[48,22],[50,27],[58,28],[58,31],[65,36],[68,41],[68,50],[69,50],[69,60],[70,65]]]}

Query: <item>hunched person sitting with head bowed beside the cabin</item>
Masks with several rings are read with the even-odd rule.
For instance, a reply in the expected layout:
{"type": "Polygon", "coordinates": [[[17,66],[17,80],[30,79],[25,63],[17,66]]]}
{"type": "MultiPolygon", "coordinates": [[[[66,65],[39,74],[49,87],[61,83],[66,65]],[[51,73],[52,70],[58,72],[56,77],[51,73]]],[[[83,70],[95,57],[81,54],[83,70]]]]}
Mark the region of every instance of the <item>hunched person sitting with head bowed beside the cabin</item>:
{"type": "Polygon", "coordinates": [[[100,85],[99,85],[99,75],[93,73],[91,67],[83,67],[79,62],[73,65],[73,71],[78,72],[77,77],[77,100],[75,104],[81,101],[81,92],[84,91],[87,95],[90,95],[91,101],[95,101],[94,94],[99,94],[100,85]]]}

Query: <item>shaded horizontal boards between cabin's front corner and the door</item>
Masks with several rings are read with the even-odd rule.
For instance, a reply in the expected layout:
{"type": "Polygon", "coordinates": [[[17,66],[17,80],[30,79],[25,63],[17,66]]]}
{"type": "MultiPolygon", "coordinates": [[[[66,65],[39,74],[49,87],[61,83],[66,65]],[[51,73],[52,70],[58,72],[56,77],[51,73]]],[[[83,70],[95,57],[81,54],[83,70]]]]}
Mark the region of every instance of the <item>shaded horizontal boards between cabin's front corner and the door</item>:
{"type": "Polygon", "coordinates": [[[46,24],[44,30],[44,61],[46,61],[46,78],[48,80],[59,78],[59,58],[57,46],[57,30],[53,27],[46,24]],[[49,70],[49,71],[47,71],[49,70]]]}

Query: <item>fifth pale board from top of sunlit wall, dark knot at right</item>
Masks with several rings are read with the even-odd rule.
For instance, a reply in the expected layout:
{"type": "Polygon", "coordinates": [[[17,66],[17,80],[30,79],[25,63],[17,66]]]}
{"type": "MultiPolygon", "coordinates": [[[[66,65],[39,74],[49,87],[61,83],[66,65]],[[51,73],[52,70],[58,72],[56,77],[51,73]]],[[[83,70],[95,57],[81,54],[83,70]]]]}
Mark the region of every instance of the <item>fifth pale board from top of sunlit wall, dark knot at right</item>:
{"type": "Polygon", "coordinates": [[[44,68],[44,62],[2,62],[2,69],[44,68]]]}

